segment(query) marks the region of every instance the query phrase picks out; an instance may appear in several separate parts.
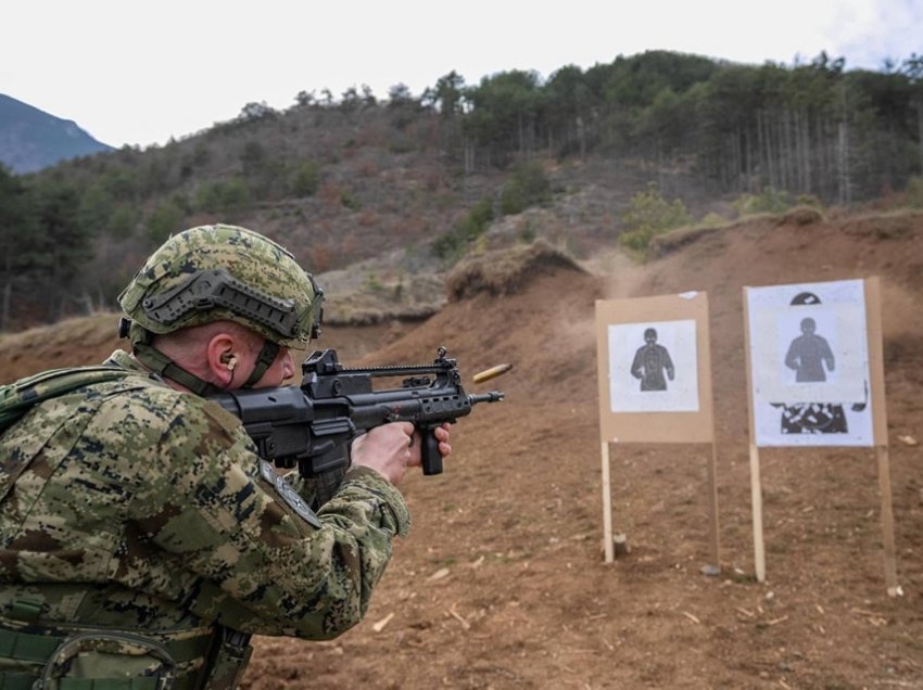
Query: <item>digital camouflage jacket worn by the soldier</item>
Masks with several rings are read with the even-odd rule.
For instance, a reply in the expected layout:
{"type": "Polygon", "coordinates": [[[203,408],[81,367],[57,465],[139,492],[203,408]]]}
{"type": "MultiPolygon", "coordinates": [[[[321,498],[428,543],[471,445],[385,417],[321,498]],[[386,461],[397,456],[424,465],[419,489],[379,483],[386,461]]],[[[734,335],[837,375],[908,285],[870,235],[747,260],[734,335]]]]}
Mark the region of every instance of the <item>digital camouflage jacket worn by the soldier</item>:
{"type": "Polygon", "coordinates": [[[343,632],[408,529],[403,498],[352,469],[317,527],[260,465],[237,418],[140,370],[36,406],[0,437],[0,615],[153,638],[343,632]]]}

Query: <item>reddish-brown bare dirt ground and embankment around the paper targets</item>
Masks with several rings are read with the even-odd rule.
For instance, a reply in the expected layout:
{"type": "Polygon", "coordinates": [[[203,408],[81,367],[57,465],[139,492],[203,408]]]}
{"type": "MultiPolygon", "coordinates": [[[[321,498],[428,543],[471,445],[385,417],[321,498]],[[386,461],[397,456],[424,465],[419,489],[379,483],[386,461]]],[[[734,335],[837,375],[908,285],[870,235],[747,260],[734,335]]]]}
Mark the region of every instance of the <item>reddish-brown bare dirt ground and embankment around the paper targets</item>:
{"type": "MultiPolygon", "coordinates": [[[[257,638],[250,690],[290,688],[923,688],[923,214],[762,218],[605,274],[538,264],[511,294],[450,302],[402,328],[328,329],[341,360],[428,361],[471,392],[366,621],[337,640],[257,638]],[[754,576],[742,286],[882,279],[889,460],[903,595],[888,597],[872,449],[762,449],[767,579],[754,576]],[[604,563],[594,301],[708,292],[721,573],[708,576],[712,447],[611,450],[617,532],[604,563]]],[[[331,295],[336,299],[336,295],[331,295]]],[[[92,362],[113,318],[0,341],[0,381],[92,362]],[[80,329],[85,329],[83,332],[80,329]],[[75,337],[75,333],[81,333],[75,337]]]]}

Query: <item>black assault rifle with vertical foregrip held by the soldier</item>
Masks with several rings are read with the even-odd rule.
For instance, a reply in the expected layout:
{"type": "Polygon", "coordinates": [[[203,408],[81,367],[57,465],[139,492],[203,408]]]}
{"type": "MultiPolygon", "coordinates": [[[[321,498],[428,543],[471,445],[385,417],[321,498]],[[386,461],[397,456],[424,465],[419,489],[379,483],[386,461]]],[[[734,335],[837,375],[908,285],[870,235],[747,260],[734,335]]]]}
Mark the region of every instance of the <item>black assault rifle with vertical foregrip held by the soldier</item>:
{"type": "MultiPolygon", "coordinates": [[[[413,422],[422,436],[423,474],[440,474],[442,456],[433,430],[470,414],[478,403],[503,399],[501,391],[466,393],[457,361],[446,354],[440,347],[431,365],[346,368],[336,350],[317,350],[302,365],[301,386],[239,389],[212,399],[243,422],[264,460],[298,467],[302,476],[345,471],[352,440],[388,422],[413,422]],[[376,391],[372,380],[381,376],[405,378],[401,387],[376,391]]],[[[475,381],[509,369],[494,367],[475,381]]]]}

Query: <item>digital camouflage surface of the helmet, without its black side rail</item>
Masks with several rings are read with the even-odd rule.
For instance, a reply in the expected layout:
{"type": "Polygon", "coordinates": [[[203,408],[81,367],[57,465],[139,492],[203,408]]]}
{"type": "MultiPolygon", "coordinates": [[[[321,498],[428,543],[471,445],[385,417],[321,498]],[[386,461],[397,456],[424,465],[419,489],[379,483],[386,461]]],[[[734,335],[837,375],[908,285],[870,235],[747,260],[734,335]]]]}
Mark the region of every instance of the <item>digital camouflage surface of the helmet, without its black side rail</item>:
{"type": "MultiPolygon", "coordinates": [[[[125,314],[152,333],[169,333],[190,325],[214,321],[237,321],[270,341],[288,347],[303,347],[319,309],[314,285],[294,257],[271,240],[237,226],[213,225],[190,228],[169,238],[154,252],[118,296],[125,314]],[[278,301],[294,312],[295,332],[280,333],[266,323],[227,308],[190,311],[164,324],[144,310],[144,301],[175,290],[194,273],[225,269],[246,288],[278,301]]],[[[139,337],[137,327],[132,343],[139,337]]]]}

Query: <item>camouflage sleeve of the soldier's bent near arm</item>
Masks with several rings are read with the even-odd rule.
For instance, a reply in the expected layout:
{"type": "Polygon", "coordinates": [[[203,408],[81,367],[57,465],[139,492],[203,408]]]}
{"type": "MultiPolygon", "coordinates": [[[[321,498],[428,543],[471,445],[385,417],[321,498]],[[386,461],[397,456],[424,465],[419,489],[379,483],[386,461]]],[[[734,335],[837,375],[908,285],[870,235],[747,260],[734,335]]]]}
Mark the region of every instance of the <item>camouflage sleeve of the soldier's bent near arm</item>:
{"type": "Polygon", "coordinates": [[[393,537],[409,524],[397,489],[372,470],[353,469],[319,515],[293,510],[261,476],[240,423],[182,397],[132,519],[194,574],[184,604],[260,635],[325,639],[358,623],[393,537]]]}

